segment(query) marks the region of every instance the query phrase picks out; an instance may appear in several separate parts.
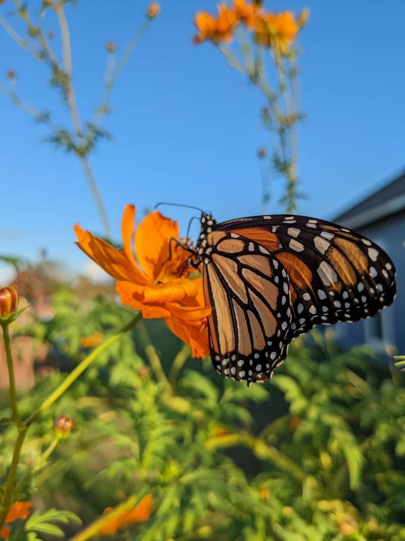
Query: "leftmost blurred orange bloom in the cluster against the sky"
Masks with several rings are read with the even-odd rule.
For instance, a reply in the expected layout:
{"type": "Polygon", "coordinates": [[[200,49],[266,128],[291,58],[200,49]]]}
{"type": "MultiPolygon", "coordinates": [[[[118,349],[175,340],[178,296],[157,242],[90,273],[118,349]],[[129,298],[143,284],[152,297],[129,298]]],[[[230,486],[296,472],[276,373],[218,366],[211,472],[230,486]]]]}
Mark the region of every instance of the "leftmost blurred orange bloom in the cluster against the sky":
{"type": "Polygon", "coordinates": [[[200,11],[194,18],[194,24],[199,30],[199,34],[194,37],[194,43],[201,43],[206,39],[212,39],[214,42],[231,42],[233,38],[233,29],[237,25],[238,19],[234,10],[224,5],[218,6],[218,17],[206,11],[200,11]]]}

